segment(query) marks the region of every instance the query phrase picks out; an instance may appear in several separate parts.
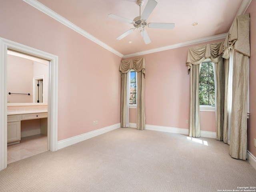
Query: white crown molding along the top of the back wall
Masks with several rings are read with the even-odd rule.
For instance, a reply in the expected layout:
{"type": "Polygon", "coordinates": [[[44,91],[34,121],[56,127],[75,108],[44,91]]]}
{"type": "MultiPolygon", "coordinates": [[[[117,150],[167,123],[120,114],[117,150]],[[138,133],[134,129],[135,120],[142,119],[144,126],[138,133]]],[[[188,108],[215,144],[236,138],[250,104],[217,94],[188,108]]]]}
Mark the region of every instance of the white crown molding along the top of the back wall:
{"type": "Polygon", "coordinates": [[[156,49],[146,50],[146,51],[132,53],[132,54],[127,54],[127,55],[124,55],[123,58],[140,56],[140,55],[145,55],[145,54],[150,54],[150,53],[175,49],[175,48],[179,48],[179,47],[194,45],[194,44],[198,44],[198,43],[204,43],[204,42],[208,42],[208,41],[219,40],[219,39],[226,38],[226,36],[227,36],[227,33],[220,34],[220,35],[214,35],[214,36],[210,36],[210,37],[206,37],[206,38],[201,38],[201,39],[196,39],[196,40],[192,40],[192,41],[187,41],[187,42],[177,43],[177,44],[173,44],[173,45],[168,45],[168,46],[160,47],[160,48],[156,48],[156,49]]]}

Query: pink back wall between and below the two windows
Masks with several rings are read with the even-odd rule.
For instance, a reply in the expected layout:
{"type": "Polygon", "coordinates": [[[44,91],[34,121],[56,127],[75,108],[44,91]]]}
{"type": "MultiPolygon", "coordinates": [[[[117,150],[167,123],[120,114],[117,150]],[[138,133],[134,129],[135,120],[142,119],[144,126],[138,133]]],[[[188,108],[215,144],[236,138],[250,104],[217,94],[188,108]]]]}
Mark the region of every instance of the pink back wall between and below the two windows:
{"type": "MultiPolygon", "coordinates": [[[[199,44],[192,46],[197,45],[199,44]]],[[[189,115],[190,76],[186,58],[189,47],[191,46],[144,55],[146,58],[145,114],[147,125],[188,129],[186,120],[189,115]]],[[[201,130],[216,132],[215,113],[200,112],[200,115],[201,130]]],[[[130,122],[132,123],[136,123],[134,116],[136,116],[136,110],[130,109],[130,122]]]]}

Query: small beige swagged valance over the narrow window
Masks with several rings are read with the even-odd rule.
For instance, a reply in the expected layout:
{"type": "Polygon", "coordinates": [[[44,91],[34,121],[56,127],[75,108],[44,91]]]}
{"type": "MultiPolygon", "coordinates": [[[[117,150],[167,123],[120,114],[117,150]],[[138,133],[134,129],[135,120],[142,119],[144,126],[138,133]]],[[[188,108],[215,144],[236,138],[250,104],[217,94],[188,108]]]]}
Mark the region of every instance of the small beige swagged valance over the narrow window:
{"type": "Polygon", "coordinates": [[[127,73],[129,70],[134,69],[134,71],[146,74],[146,60],[144,57],[135,58],[135,59],[127,59],[122,60],[120,63],[119,72],[120,73],[127,73]]]}

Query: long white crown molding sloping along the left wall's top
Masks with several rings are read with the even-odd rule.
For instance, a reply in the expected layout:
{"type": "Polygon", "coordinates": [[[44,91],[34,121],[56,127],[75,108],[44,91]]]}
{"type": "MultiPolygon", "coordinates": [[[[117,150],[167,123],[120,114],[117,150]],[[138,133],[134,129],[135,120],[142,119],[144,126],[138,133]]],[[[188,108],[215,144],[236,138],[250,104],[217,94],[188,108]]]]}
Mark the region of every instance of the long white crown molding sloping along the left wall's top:
{"type": "Polygon", "coordinates": [[[92,40],[93,42],[95,42],[96,44],[98,44],[98,45],[102,46],[103,48],[109,50],[110,52],[112,52],[112,53],[114,53],[114,54],[116,54],[116,55],[118,55],[120,57],[124,56],[122,53],[120,53],[117,50],[113,49],[112,47],[108,46],[104,42],[98,40],[96,37],[92,36],[88,32],[84,31],[80,27],[78,27],[75,24],[73,24],[72,22],[70,22],[69,20],[65,19],[64,17],[60,16],[59,14],[54,12],[53,10],[51,10],[48,7],[44,6],[42,3],[40,3],[40,2],[38,2],[36,0],[23,0],[23,1],[26,2],[27,4],[30,4],[34,8],[40,10],[44,14],[50,16],[51,18],[54,18],[55,20],[57,20],[58,22],[64,24],[68,28],[74,30],[75,32],[78,32],[82,36],[92,40]]]}

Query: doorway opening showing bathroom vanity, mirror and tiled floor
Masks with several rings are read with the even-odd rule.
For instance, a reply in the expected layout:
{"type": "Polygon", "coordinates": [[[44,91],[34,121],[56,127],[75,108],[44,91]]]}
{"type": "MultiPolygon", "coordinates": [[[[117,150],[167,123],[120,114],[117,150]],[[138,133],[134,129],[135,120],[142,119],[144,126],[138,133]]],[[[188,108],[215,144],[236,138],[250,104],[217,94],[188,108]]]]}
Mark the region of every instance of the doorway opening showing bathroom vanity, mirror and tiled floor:
{"type": "MultiPolygon", "coordinates": [[[[49,61],[11,50],[8,50],[7,54],[7,92],[30,93],[30,95],[25,96],[22,94],[7,95],[7,110],[30,108],[31,111],[31,109],[40,107],[41,111],[48,112],[49,61]],[[44,86],[44,82],[46,82],[46,86],[44,86]]],[[[23,120],[19,114],[13,116],[10,115],[10,112],[7,113],[7,141],[9,141],[7,144],[7,164],[47,151],[47,113],[44,114],[46,118],[31,120],[23,120]],[[12,121],[10,119],[14,117],[20,117],[20,121],[10,122],[12,121]]]]}

